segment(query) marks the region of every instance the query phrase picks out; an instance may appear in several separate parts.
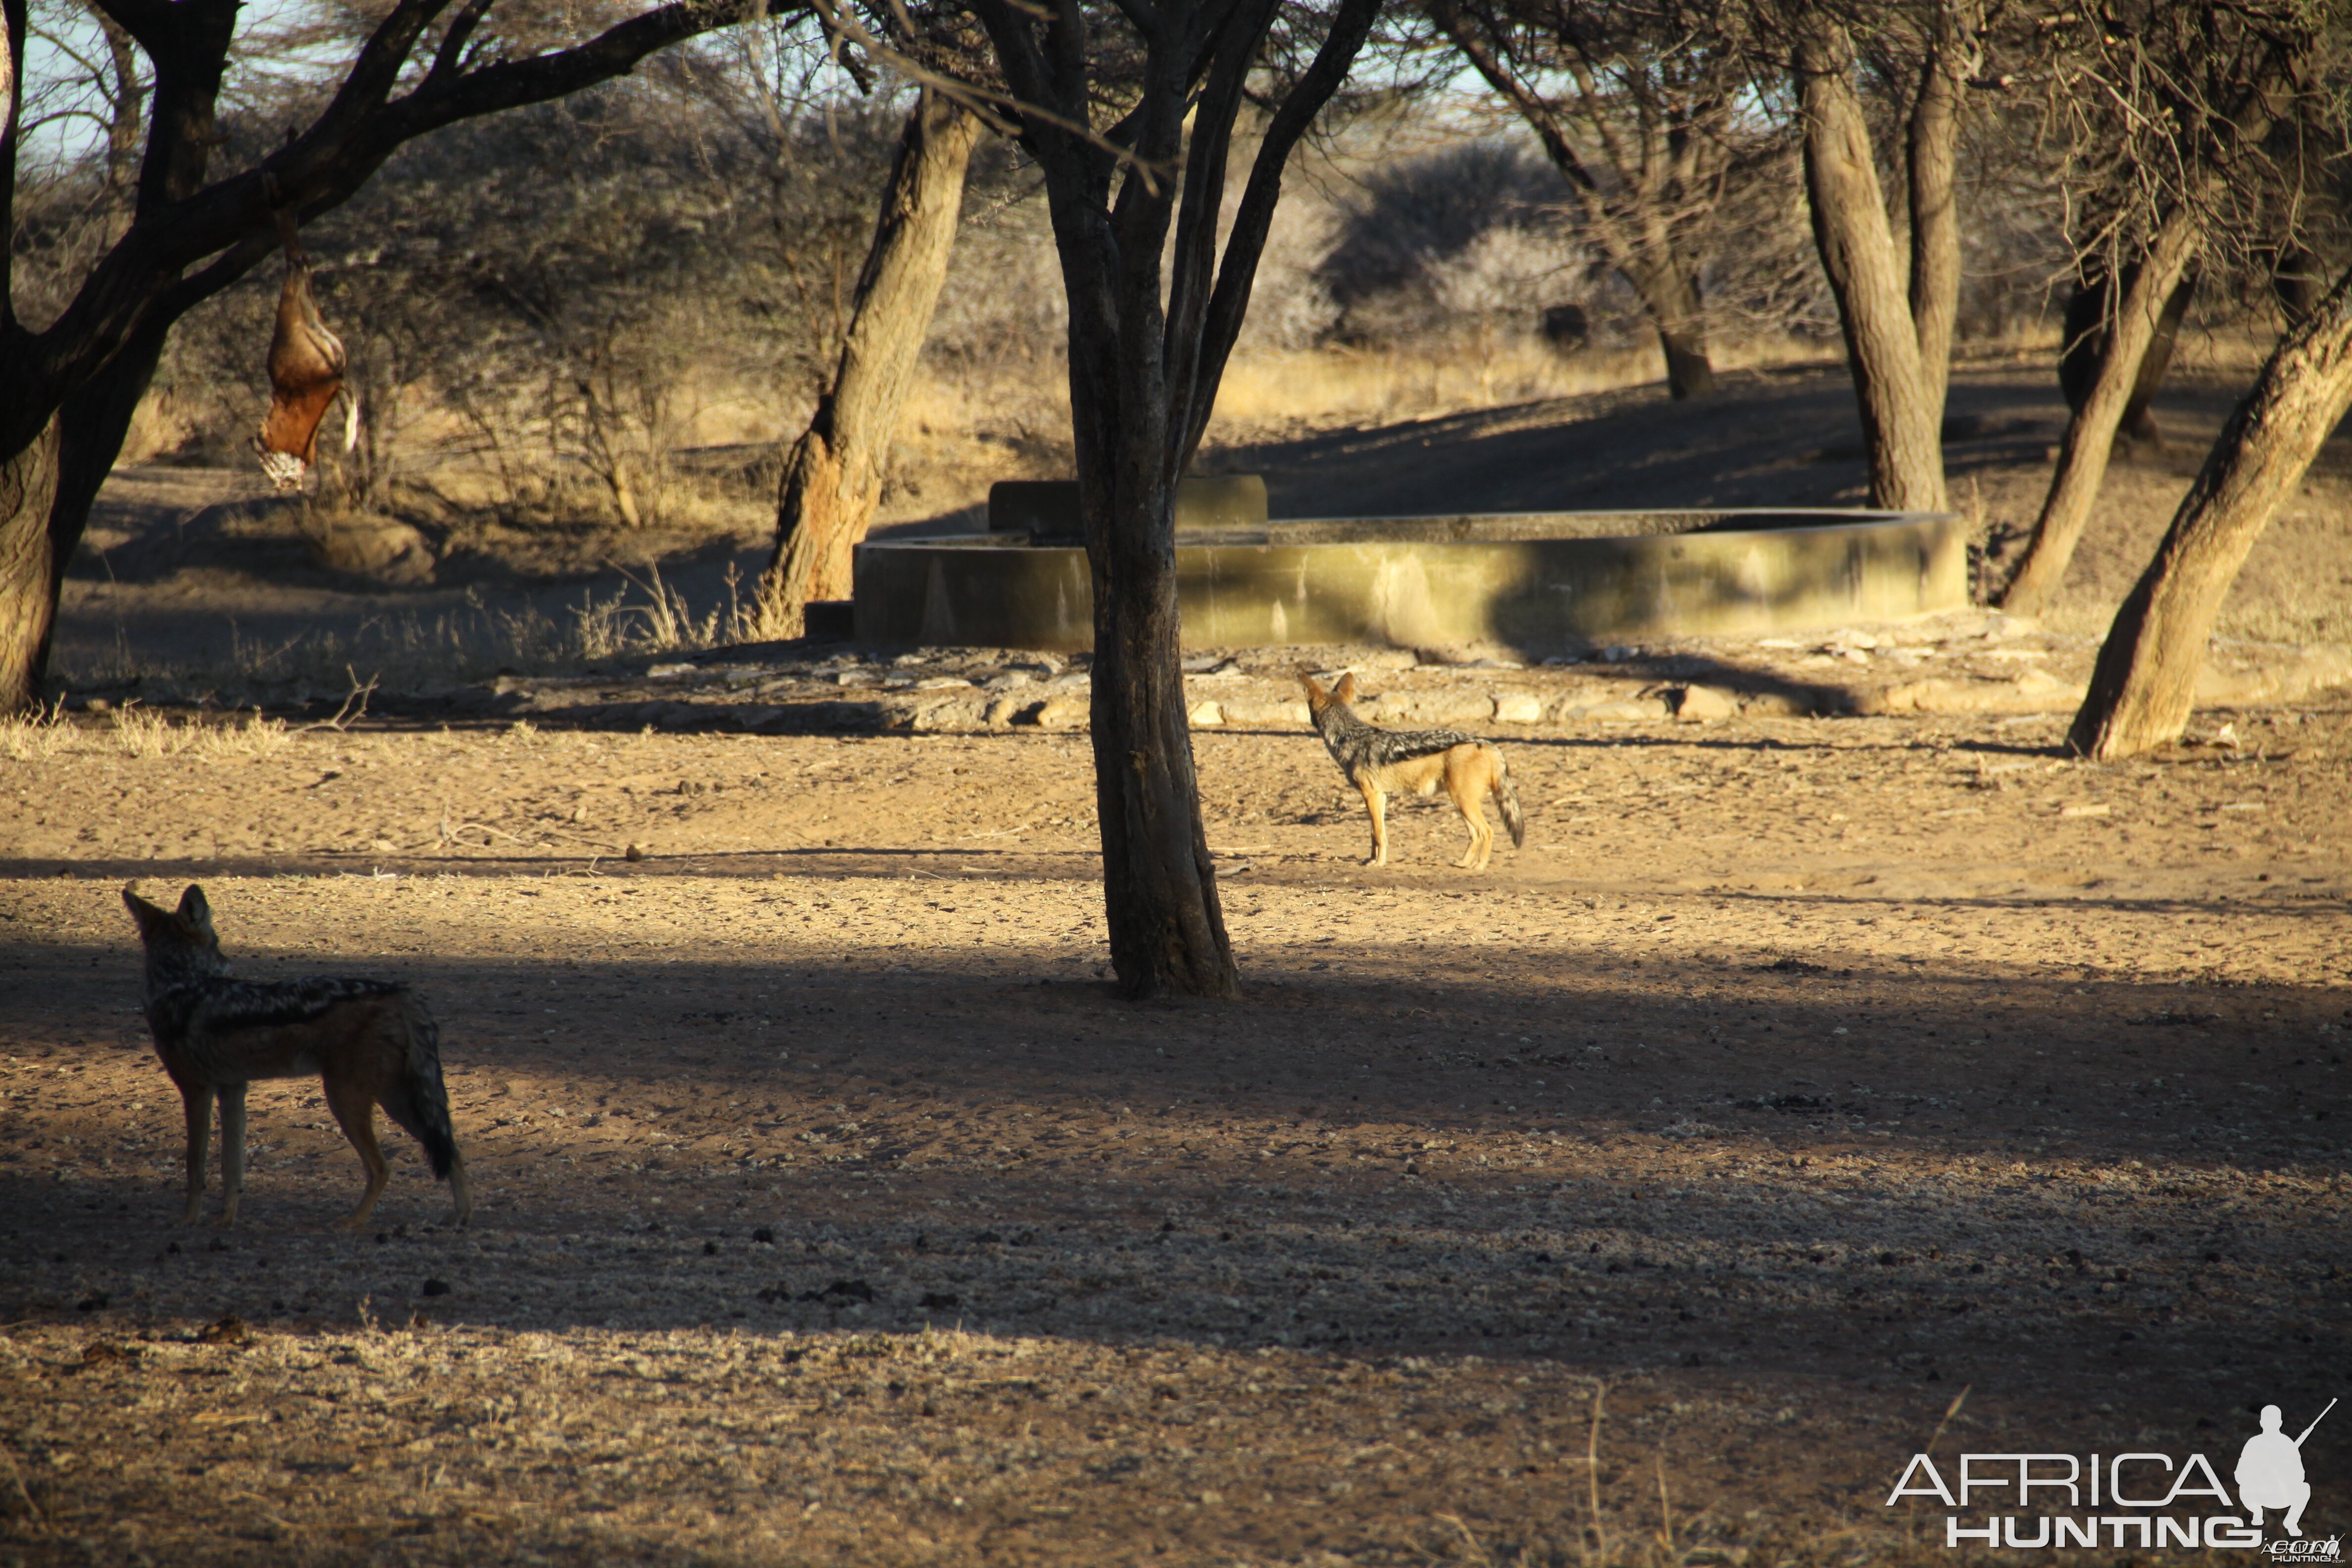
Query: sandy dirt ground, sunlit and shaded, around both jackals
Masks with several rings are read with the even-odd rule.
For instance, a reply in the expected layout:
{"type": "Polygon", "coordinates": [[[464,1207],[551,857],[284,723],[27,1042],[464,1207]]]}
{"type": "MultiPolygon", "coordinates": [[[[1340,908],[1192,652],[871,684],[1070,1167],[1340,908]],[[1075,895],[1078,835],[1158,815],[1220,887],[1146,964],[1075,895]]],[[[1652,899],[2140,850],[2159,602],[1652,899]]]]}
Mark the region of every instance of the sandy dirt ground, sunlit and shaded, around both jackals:
{"type": "Polygon", "coordinates": [[[16,731],[0,1563],[1957,1563],[1922,1448],[2227,1476],[2347,1392],[2352,701],[2086,766],[2065,625],[1846,632],[1305,651],[1498,738],[1486,875],[1200,661],[1214,1006],[1110,992],[1082,670],[1004,651],[16,731]],[[430,999],[468,1229],[395,1133],[341,1234],[303,1081],[176,1222],[132,877],[430,999]]]}

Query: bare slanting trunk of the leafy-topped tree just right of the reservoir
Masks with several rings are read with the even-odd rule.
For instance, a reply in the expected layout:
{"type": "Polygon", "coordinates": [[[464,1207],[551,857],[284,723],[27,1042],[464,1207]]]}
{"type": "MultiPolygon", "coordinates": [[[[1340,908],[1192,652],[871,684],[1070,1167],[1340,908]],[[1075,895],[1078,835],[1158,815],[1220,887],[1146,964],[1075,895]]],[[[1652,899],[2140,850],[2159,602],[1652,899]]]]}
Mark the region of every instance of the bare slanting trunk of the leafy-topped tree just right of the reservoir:
{"type": "Polygon", "coordinates": [[[2042,498],[2042,515],[2025,543],[2025,559],[2018,562],[2009,590],[2002,592],[2002,609],[2013,616],[2037,616],[2058,597],[2074,545],[2091,522],[2091,503],[2107,477],[2107,458],[2114,451],[2114,433],[2131,407],[2133,388],[2140,378],[2140,360],[2157,339],[2157,322],[2166,301],[2180,287],[2190,261],[2201,242],[2201,226],[2194,209],[2183,202],[2147,242],[2138,270],[2114,303],[2114,324],[2107,329],[2107,350],[2098,357],[2098,376],[2091,381],[2082,409],[2065,425],[2058,447],[2058,470],[2051,489],[2042,498]]]}

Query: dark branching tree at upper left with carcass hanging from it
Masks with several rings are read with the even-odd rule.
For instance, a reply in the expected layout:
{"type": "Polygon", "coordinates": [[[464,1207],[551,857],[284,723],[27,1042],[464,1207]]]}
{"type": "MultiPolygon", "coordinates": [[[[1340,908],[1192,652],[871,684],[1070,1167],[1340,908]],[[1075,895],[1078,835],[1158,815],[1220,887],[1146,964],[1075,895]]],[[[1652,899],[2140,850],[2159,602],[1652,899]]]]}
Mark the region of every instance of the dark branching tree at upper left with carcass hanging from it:
{"type": "MultiPolygon", "coordinates": [[[[12,254],[0,256],[0,712],[38,701],[66,562],[172,324],[278,249],[275,212],[313,219],[416,136],[612,80],[656,49],[769,9],[675,0],[550,42],[546,14],[506,28],[494,5],[395,0],[308,125],[216,176],[238,0],[96,0],[146,56],[153,87],[129,223],[47,324],[19,315],[12,254]]],[[[14,233],[24,0],[0,0],[0,16],[9,38],[0,216],[14,233]]]]}

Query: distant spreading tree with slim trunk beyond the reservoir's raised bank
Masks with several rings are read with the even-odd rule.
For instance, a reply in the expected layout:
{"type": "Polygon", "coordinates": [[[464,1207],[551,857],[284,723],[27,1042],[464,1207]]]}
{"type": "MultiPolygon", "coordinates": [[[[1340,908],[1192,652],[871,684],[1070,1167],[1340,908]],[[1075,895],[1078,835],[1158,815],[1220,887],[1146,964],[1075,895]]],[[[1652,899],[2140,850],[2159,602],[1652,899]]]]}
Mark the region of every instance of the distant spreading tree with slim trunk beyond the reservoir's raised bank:
{"type": "Polygon", "coordinates": [[[1578,223],[1658,334],[1668,390],[1712,393],[1700,273],[1748,158],[1738,7],[1428,0],[1428,12],[1569,181],[1578,223]]]}

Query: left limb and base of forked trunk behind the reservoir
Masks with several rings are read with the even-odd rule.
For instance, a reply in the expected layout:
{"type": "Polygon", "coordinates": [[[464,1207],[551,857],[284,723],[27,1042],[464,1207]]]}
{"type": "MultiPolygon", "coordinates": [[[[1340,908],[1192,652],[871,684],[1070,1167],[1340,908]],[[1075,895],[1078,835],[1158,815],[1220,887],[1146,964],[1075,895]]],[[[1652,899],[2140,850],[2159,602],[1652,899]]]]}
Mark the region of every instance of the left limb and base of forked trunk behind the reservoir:
{"type": "Polygon", "coordinates": [[[1797,42],[1813,244],[1846,334],[1846,364],[1870,449],[1870,503],[1940,512],[1945,367],[1929,367],[1922,355],[1919,322],[1905,301],[1903,259],[1886,223],[1870,122],[1846,80],[1851,61],[1853,47],[1832,24],[1811,26],[1797,42]]]}

